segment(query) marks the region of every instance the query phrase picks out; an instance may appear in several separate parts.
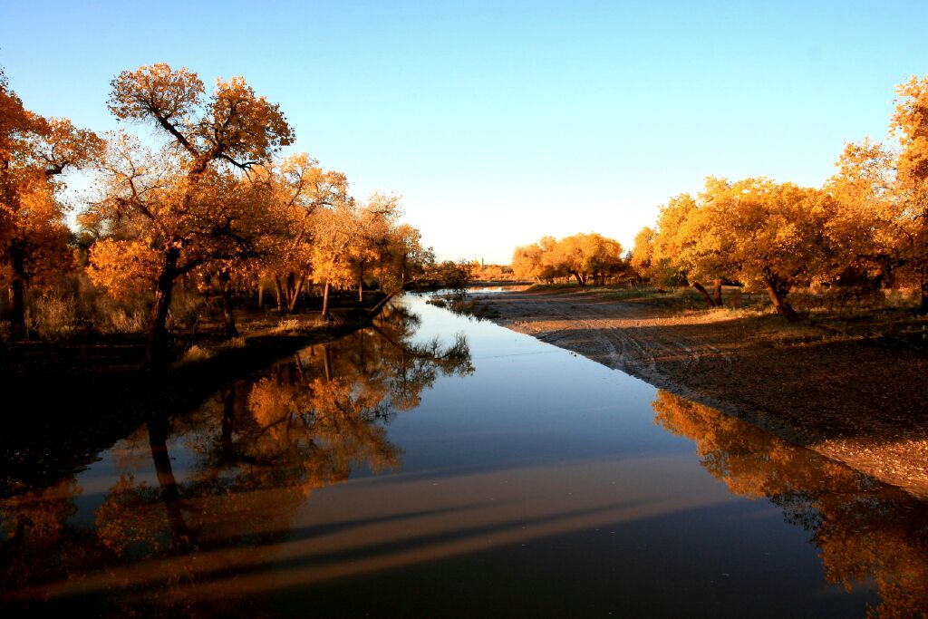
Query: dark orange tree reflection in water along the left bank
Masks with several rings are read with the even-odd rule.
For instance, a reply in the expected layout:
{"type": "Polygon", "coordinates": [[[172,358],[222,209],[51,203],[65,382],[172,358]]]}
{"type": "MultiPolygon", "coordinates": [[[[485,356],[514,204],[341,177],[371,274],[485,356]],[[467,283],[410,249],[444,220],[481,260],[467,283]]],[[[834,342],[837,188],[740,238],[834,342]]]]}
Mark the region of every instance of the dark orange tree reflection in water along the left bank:
{"type": "Polygon", "coordinates": [[[418,406],[439,376],[473,371],[463,336],[415,344],[418,326],[418,316],[390,309],[373,327],[311,346],[190,415],[149,419],[116,461],[131,463],[147,446],[155,474],[139,477],[157,485],[123,471],[94,526],[69,522],[81,491],[73,478],[0,501],[4,601],[28,608],[64,592],[105,599],[114,614],[246,612],[236,570],[291,535],[313,490],[358,468],[398,469],[402,451],[383,424],[418,406]],[[177,475],[172,450],[192,460],[177,475]],[[222,595],[200,604],[197,587],[213,579],[222,595]]]}

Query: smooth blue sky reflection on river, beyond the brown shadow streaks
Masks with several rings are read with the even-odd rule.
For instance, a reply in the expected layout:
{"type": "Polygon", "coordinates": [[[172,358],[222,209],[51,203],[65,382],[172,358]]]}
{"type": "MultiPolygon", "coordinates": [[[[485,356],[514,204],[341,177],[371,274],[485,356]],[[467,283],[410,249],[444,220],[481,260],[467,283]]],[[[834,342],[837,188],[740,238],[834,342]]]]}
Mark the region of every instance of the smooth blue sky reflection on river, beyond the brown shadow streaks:
{"type": "Polygon", "coordinates": [[[654,427],[655,390],[647,383],[490,322],[426,303],[416,303],[415,312],[422,317],[419,341],[448,341],[463,324],[476,371],[438,380],[415,415],[393,422],[391,437],[406,450],[405,471],[430,458],[445,466],[496,467],[691,452],[688,441],[654,427]]]}

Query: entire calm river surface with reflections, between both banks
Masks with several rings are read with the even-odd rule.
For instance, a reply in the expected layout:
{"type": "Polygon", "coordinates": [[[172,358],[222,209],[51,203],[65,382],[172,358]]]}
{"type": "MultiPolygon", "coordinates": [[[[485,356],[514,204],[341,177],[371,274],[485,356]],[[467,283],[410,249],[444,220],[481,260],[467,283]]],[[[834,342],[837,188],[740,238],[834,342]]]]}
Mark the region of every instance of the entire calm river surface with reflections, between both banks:
{"type": "Polygon", "coordinates": [[[99,458],[0,502],[7,609],[862,617],[928,599],[922,503],[423,297],[99,458]]]}

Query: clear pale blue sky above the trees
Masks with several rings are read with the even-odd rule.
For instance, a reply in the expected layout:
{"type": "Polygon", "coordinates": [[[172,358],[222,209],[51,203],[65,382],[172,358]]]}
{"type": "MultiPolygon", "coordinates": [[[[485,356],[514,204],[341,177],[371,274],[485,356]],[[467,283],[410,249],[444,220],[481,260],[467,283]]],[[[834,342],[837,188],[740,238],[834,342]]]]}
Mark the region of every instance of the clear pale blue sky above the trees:
{"type": "MultiPolygon", "coordinates": [[[[551,235],[626,249],[706,176],[817,186],[928,73],[928,2],[0,0],[25,107],[105,132],[120,71],[243,76],[290,148],[402,197],[439,259],[551,235]]],[[[137,128],[134,128],[137,131],[137,128]]]]}

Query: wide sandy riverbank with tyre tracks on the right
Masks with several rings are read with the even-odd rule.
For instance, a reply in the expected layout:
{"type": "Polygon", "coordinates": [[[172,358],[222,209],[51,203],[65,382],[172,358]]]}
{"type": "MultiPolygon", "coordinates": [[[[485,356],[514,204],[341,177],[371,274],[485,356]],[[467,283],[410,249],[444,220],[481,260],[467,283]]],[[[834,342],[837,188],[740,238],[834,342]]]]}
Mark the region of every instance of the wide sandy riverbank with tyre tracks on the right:
{"type": "Polygon", "coordinates": [[[928,498],[928,354],[920,342],[577,291],[510,291],[480,303],[496,324],[928,498]]]}

